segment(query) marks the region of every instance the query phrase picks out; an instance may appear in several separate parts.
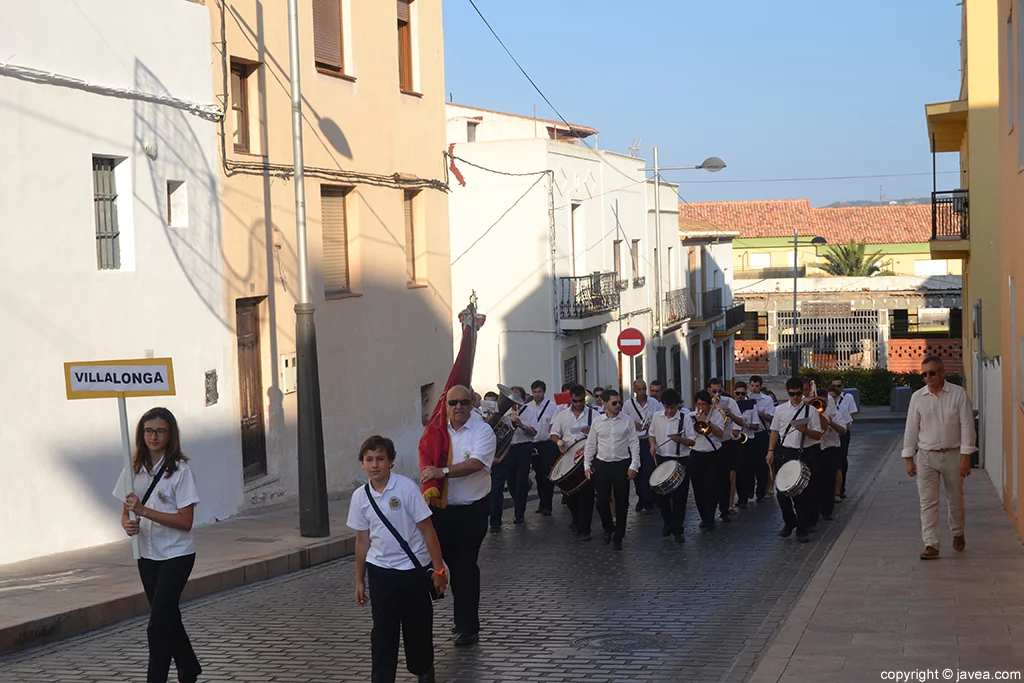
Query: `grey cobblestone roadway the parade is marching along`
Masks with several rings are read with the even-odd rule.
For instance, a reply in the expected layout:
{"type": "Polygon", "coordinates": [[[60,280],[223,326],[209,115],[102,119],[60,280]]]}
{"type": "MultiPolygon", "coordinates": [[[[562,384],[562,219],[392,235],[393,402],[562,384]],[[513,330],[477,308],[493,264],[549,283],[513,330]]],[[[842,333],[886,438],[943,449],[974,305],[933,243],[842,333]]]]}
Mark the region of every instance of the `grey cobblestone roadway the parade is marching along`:
{"type": "MultiPolygon", "coordinates": [[[[621,553],[599,535],[574,540],[564,509],[550,518],[530,510],[525,527],[507,515],[481,551],[479,645],[452,645],[451,599],[435,612],[438,681],[744,680],[901,427],[858,426],[850,498],[807,545],[776,537],[773,499],[713,533],[697,530],[691,502],[683,546],[660,537],[659,516],[631,505],[621,553]]],[[[352,599],[352,560],[339,560],[187,604],[201,680],[369,681],[370,611],[352,599]]],[[[0,681],[138,681],[145,656],[145,621],[135,620],[0,658],[0,681]]],[[[403,666],[399,680],[413,680],[403,666]]]]}

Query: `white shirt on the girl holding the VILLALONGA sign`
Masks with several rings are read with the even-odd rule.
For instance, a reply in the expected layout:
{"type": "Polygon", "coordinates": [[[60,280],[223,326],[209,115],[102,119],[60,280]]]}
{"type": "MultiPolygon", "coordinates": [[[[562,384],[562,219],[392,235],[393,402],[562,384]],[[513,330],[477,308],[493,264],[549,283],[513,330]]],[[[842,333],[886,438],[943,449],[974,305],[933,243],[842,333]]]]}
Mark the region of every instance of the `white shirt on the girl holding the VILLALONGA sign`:
{"type": "MultiPolygon", "coordinates": [[[[134,490],[139,500],[145,496],[146,489],[153,482],[153,475],[160,469],[164,459],[154,465],[148,471],[144,467],[134,477],[134,490]]],[[[122,503],[125,500],[125,472],[121,470],[118,483],[114,487],[114,498],[122,503]]],[[[182,508],[199,503],[199,493],[196,490],[196,476],[193,474],[188,463],[178,463],[178,468],[174,474],[167,476],[164,473],[160,477],[160,482],[153,489],[150,500],[145,502],[145,507],[157,512],[174,514],[182,508]]],[[[139,554],[147,560],[169,560],[174,557],[191,555],[196,552],[196,540],[191,530],[164,526],[152,519],[141,518],[138,520],[138,550],[139,554]]]]}

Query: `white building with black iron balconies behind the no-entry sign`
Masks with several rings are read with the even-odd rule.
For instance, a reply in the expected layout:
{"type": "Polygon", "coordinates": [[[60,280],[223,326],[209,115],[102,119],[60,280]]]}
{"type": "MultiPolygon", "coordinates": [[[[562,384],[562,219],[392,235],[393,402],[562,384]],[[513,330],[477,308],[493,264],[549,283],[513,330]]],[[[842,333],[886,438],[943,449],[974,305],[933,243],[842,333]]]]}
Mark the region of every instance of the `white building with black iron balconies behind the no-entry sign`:
{"type": "Polygon", "coordinates": [[[474,365],[481,394],[538,379],[551,392],[655,377],[690,393],[696,306],[676,186],[662,183],[658,222],[646,162],[592,148],[596,133],[447,106],[453,296],[475,291],[487,315],[474,365]],[[627,327],[647,340],[632,359],[616,345],[627,327]]]}

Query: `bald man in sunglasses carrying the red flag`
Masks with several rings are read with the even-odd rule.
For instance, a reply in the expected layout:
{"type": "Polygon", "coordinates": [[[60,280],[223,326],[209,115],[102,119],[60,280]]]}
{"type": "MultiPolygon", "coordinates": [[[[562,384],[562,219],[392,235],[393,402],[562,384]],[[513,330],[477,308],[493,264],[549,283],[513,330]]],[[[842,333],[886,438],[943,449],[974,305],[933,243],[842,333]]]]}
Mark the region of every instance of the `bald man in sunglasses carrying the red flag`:
{"type": "Polygon", "coordinates": [[[447,505],[433,508],[431,519],[441,544],[441,554],[452,571],[455,597],[456,645],[472,645],[480,633],[480,567],[477,557],[487,535],[490,502],[490,466],[495,460],[495,431],[483,420],[471,419],[473,397],[456,385],[446,395],[452,464],[424,467],[423,481],[443,479],[447,505]],[[456,578],[458,573],[458,578],[456,578]]]}

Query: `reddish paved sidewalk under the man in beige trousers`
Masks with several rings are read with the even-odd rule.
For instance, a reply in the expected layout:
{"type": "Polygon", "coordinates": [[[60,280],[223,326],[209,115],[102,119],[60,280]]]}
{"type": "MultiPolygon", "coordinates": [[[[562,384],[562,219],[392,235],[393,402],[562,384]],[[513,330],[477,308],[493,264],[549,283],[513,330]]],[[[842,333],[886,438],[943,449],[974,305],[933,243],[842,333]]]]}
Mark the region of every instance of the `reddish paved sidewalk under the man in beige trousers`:
{"type": "Polygon", "coordinates": [[[952,551],[943,496],[942,555],[920,560],[916,483],[894,451],[751,683],[1024,671],[1024,550],[985,472],[966,498],[967,550],[952,551]]]}

